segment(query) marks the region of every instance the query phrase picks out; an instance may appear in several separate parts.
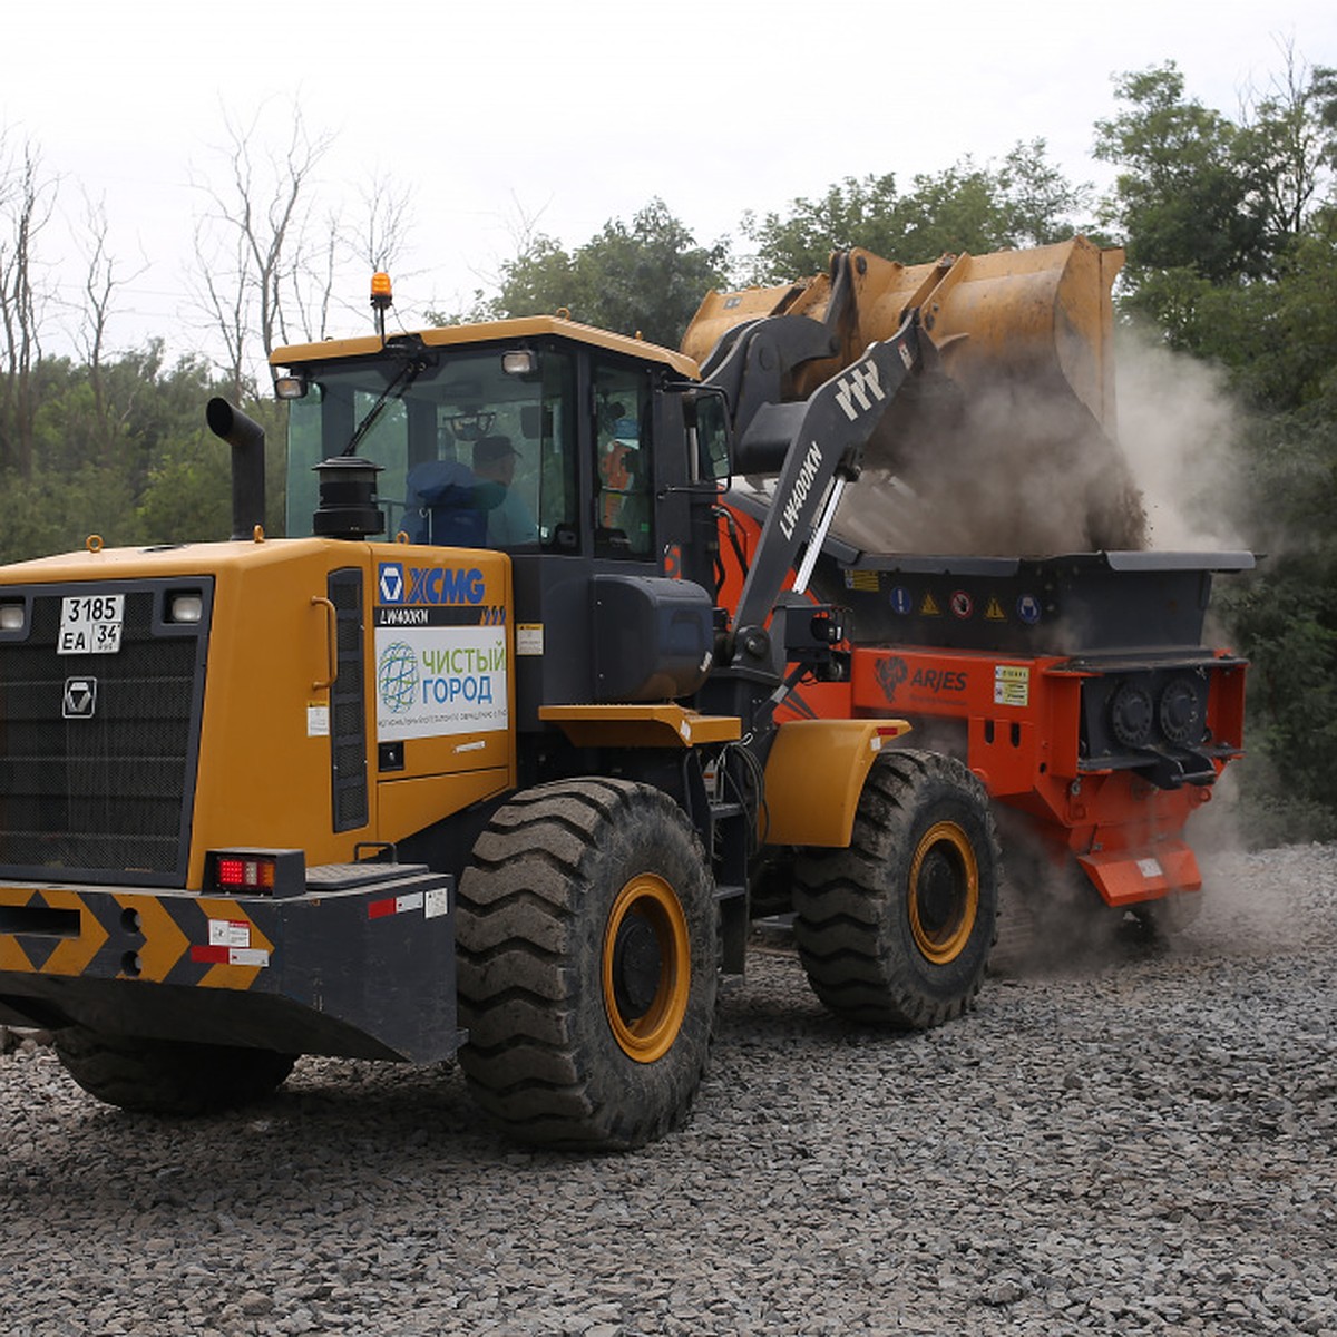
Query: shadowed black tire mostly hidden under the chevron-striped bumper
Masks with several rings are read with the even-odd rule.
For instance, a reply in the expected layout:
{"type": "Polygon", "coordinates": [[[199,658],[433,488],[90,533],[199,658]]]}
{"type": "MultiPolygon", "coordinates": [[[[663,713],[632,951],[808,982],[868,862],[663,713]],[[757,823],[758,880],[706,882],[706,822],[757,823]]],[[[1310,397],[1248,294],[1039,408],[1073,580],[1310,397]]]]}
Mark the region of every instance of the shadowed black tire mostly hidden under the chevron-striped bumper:
{"type": "Polygon", "coordinates": [[[249,1104],[277,1091],[297,1062],[269,1050],[128,1039],[79,1025],[52,1039],[62,1066],[84,1091],[136,1114],[209,1114],[249,1104]]]}

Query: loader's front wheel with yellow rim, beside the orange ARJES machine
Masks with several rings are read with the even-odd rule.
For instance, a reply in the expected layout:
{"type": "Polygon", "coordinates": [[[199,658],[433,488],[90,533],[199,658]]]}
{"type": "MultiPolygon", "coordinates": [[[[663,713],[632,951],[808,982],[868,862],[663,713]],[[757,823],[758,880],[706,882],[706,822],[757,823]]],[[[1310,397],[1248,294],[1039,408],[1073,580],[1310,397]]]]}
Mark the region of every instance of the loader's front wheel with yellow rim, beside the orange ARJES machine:
{"type": "Polygon", "coordinates": [[[794,941],[809,983],[861,1024],[927,1029],[960,1016],[997,920],[997,828],[984,786],[937,753],[873,763],[848,849],[794,868],[794,941]]]}

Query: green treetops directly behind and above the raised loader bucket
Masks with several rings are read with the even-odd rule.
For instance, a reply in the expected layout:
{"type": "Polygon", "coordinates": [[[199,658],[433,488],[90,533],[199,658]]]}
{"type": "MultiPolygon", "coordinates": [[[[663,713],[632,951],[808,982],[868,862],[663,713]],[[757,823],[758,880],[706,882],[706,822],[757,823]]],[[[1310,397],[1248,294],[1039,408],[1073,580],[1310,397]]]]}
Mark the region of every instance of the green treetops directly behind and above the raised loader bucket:
{"type": "Polygon", "coordinates": [[[846,176],[817,199],[796,199],[787,217],[749,215],[755,246],[751,282],[781,283],[826,269],[833,250],[861,246],[888,259],[921,263],[952,251],[983,254],[1062,241],[1079,229],[1090,187],[1072,186],[1046,156],[1043,139],[1019,143],[997,166],[972,158],[909,193],[892,174],[846,176]]]}

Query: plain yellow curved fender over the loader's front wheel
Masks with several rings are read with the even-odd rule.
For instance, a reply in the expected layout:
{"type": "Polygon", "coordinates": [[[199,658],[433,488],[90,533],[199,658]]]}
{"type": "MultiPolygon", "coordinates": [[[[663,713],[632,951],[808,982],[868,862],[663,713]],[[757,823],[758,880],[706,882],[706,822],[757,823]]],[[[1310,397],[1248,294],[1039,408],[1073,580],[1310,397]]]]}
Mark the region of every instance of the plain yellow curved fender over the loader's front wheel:
{"type": "Polygon", "coordinates": [[[763,842],[844,849],[877,754],[909,729],[904,719],[793,719],[781,725],[766,759],[763,842]]]}

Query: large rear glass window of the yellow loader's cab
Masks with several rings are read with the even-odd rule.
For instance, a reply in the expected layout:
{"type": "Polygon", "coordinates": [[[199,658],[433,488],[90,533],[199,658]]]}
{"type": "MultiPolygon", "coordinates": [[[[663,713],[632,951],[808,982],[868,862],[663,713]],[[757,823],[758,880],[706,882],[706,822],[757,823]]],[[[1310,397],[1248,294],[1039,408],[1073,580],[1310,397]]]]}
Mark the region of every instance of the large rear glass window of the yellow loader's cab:
{"type": "Polygon", "coordinates": [[[513,349],[417,349],[310,372],[290,402],[287,532],[309,535],[321,460],[354,453],[381,465],[386,536],[507,550],[576,541],[576,443],[570,356],[513,349]],[[405,374],[405,357],[421,362],[405,374]],[[516,362],[519,360],[512,360],[516,362]]]}

